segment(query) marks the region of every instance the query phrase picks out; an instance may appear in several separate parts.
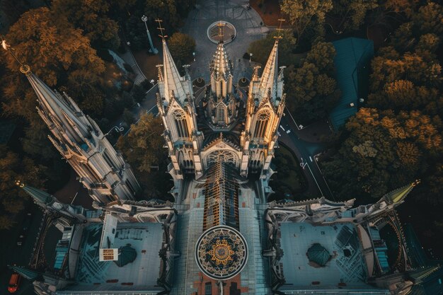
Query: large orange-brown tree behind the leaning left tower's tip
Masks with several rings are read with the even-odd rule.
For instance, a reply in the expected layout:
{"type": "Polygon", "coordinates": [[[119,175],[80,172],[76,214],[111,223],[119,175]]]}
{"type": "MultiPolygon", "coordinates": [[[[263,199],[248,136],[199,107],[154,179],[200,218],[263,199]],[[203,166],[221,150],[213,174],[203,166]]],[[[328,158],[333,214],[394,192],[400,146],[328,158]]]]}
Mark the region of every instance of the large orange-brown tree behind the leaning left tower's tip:
{"type": "MultiPolygon", "coordinates": [[[[18,59],[29,64],[31,70],[49,86],[76,69],[89,69],[94,74],[105,70],[103,61],[91,48],[87,37],[63,16],[54,15],[48,8],[23,13],[6,35],[8,44],[16,50],[18,59]]],[[[6,66],[13,72],[18,64],[6,54],[6,66]]]]}

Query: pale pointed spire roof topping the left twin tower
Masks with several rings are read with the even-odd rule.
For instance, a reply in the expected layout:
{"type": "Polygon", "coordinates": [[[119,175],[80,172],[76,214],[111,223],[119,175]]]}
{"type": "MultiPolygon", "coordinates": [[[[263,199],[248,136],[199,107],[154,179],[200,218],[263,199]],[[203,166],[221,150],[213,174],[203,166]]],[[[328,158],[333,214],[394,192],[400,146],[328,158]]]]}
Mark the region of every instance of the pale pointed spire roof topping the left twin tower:
{"type": "Polygon", "coordinates": [[[163,79],[165,88],[165,98],[169,100],[173,91],[174,96],[183,103],[186,98],[185,88],[182,85],[182,79],[174,63],[171,52],[169,52],[166,40],[163,38],[163,79]]]}

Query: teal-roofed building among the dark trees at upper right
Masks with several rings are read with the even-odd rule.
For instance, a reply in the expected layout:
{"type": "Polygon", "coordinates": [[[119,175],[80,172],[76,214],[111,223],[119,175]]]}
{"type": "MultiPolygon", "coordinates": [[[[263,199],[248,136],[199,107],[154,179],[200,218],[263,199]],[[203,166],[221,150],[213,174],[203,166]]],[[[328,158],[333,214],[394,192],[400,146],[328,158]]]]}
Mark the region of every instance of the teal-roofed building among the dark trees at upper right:
{"type": "Polygon", "coordinates": [[[372,40],[350,37],[334,41],[333,45],[337,52],[334,59],[335,79],[342,96],[330,111],[329,118],[330,125],[338,130],[357,112],[362,103],[360,98],[367,98],[374,43],[372,40]]]}

